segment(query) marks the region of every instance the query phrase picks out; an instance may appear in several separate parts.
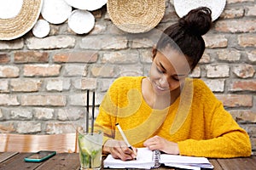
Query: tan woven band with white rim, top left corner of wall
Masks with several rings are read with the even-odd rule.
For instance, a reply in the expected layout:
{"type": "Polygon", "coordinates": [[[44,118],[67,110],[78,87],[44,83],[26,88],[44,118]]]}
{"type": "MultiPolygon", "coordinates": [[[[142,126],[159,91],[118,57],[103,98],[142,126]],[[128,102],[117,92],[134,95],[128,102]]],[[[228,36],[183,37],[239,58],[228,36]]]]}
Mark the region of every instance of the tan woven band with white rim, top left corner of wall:
{"type": "Polygon", "coordinates": [[[36,24],[43,0],[23,0],[20,13],[12,18],[0,18],[0,40],[12,40],[30,31],[36,24]]]}

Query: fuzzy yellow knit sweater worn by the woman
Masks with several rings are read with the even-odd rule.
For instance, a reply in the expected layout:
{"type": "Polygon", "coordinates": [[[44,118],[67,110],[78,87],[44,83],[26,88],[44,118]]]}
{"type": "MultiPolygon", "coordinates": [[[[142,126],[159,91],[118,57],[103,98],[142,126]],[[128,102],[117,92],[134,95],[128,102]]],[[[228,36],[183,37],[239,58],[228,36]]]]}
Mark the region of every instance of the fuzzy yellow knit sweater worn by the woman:
{"type": "Polygon", "coordinates": [[[119,123],[135,147],[159,135],[176,142],[184,156],[251,155],[246,131],[200,79],[187,78],[182,94],[170,107],[154,110],[143,99],[143,78],[119,77],[108,89],[95,123],[95,129],[104,132],[104,141],[122,139],[115,127],[119,123]]]}

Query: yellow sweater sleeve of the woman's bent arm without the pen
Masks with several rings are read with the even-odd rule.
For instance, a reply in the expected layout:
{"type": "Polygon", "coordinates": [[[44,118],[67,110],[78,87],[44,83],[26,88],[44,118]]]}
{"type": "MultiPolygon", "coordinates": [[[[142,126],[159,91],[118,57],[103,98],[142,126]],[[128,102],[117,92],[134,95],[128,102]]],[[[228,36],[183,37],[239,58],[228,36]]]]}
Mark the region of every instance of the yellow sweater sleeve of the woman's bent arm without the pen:
{"type": "Polygon", "coordinates": [[[208,94],[204,101],[207,137],[178,142],[180,154],[212,158],[250,156],[251,144],[247,132],[225,111],[223,104],[213,94],[208,94]]]}

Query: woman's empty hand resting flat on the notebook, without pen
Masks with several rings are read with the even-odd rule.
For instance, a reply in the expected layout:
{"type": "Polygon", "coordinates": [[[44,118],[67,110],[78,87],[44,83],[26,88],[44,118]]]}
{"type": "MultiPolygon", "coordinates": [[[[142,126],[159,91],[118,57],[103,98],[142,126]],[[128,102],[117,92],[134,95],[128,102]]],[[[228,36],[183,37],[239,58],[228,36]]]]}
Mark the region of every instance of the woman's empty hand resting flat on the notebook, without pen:
{"type": "Polygon", "coordinates": [[[149,150],[160,150],[166,154],[179,154],[177,143],[163,139],[160,136],[154,136],[153,138],[147,139],[144,142],[144,146],[149,150]]]}

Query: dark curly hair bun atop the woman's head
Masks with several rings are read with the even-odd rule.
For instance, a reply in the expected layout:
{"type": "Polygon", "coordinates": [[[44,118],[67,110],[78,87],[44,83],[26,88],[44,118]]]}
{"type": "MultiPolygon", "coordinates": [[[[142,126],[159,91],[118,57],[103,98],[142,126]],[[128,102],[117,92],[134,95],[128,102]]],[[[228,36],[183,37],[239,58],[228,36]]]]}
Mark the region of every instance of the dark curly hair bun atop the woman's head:
{"type": "Polygon", "coordinates": [[[195,35],[204,35],[212,26],[212,11],[210,8],[201,7],[189,11],[178,20],[179,26],[195,35]]]}

